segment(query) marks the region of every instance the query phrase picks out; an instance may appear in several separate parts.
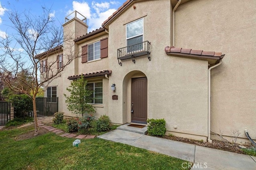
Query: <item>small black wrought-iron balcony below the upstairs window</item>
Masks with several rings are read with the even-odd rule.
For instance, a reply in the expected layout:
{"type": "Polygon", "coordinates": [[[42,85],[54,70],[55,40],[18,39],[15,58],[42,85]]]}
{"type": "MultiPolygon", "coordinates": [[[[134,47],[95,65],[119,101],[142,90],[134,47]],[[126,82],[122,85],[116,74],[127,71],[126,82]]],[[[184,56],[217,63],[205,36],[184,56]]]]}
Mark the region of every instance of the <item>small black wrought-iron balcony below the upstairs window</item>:
{"type": "Polygon", "coordinates": [[[150,61],[150,42],[144,41],[142,43],[130,45],[123,47],[117,50],[117,59],[118,64],[122,66],[122,63],[119,60],[132,59],[132,62],[135,63],[135,57],[147,55],[148,60],[150,61]]]}

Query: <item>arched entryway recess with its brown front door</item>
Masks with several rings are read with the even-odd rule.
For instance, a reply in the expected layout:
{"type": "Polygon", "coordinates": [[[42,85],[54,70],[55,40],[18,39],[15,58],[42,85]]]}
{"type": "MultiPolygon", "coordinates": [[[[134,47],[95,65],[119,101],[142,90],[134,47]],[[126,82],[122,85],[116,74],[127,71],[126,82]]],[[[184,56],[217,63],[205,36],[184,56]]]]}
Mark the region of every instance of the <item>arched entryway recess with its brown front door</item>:
{"type": "Polygon", "coordinates": [[[145,124],[148,117],[148,79],[141,71],[129,72],[123,81],[127,122],[145,124]]]}

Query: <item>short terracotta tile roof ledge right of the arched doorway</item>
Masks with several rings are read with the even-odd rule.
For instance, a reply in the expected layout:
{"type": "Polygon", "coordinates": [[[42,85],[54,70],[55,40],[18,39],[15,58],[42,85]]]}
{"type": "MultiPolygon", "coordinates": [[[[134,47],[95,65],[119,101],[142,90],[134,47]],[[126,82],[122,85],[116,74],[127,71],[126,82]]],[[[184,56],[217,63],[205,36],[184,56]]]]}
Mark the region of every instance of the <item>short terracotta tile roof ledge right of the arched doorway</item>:
{"type": "Polygon", "coordinates": [[[180,56],[186,56],[186,57],[197,57],[197,58],[215,59],[215,60],[221,60],[225,56],[225,55],[222,55],[222,53],[216,53],[214,51],[183,49],[183,48],[177,48],[174,46],[173,47],[166,46],[164,51],[168,55],[172,54],[172,55],[180,55],[180,56]]]}

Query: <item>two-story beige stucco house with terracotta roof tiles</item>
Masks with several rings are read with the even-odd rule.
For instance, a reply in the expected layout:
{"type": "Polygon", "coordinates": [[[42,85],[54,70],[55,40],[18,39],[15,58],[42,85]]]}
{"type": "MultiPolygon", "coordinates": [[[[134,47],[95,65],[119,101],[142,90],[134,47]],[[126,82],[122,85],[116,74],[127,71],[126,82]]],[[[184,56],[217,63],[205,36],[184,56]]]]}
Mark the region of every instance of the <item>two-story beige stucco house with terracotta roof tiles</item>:
{"type": "Polygon", "coordinates": [[[112,123],[164,118],[166,134],[211,142],[240,131],[244,142],[248,129],[256,139],[255,9],[252,0],[127,0],[90,33],[74,17],[63,25],[73,41],[41,61],[57,59],[59,68],[67,49],[80,57],[45,96],[57,96],[59,111],[74,116],[63,94],[84,74],[96,116],[112,123]]]}

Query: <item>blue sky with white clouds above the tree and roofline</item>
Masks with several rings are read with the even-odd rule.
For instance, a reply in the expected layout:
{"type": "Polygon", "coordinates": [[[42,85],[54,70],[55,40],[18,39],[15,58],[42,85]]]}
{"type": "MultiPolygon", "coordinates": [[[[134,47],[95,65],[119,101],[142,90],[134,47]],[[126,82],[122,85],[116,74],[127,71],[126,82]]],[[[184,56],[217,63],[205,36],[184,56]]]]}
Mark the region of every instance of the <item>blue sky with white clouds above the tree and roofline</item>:
{"type": "Polygon", "coordinates": [[[101,27],[103,21],[112,15],[126,0],[0,0],[0,38],[10,33],[6,12],[28,11],[33,15],[42,12],[42,6],[51,8],[52,17],[63,24],[68,14],[77,10],[87,18],[88,31],[101,27]]]}

